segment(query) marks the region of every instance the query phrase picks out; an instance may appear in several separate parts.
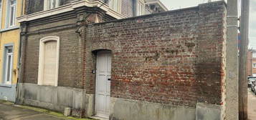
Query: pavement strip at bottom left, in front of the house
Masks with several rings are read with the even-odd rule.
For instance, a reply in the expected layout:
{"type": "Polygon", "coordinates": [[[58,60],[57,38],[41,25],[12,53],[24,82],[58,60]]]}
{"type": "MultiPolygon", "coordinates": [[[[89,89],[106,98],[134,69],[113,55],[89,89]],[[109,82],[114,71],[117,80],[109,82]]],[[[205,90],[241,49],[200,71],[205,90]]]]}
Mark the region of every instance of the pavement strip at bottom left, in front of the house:
{"type": "Polygon", "coordinates": [[[90,120],[65,117],[60,113],[0,101],[0,120],[90,120]]]}

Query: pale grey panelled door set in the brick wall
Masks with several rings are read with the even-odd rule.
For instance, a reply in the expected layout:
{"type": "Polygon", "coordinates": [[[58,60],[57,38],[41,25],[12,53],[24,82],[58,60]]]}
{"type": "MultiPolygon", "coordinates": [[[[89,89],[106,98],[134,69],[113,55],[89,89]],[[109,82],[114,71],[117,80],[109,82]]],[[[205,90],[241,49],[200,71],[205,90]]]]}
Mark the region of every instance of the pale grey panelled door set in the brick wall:
{"type": "Polygon", "coordinates": [[[97,54],[96,73],[96,97],[95,111],[97,116],[110,114],[110,79],[111,76],[111,54],[110,51],[100,51],[97,54]]]}

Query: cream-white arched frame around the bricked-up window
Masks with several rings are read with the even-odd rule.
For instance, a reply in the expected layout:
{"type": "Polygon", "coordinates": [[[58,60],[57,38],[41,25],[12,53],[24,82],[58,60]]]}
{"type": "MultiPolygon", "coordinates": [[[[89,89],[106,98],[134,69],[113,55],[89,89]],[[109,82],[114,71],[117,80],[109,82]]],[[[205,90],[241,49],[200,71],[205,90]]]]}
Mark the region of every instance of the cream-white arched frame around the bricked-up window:
{"type": "Polygon", "coordinates": [[[57,61],[56,61],[56,76],[54,86],[58,86],[59,76],[59,59],[60,59],[60,37],[59,36],[46,36],[40,39],[39,44],[39,64],[38,64],[38,85],[43,85],[43,74],[44,74],[44,43],[47,41],[57,41],[57,61]]]}

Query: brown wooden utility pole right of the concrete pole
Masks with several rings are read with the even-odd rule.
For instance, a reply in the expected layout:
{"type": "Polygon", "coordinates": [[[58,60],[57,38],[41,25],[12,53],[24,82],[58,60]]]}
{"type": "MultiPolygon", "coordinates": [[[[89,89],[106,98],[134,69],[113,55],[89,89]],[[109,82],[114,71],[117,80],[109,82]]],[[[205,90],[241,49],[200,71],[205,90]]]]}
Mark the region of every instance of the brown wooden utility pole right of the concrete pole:
{"type": "Polygon", "coordinates": [[[241,45],[240,45],[240,66],[239,66],[239,117],[247,119],[247,51],[249,31],[249,8],[250,0],[241,1],[241,45]]]}

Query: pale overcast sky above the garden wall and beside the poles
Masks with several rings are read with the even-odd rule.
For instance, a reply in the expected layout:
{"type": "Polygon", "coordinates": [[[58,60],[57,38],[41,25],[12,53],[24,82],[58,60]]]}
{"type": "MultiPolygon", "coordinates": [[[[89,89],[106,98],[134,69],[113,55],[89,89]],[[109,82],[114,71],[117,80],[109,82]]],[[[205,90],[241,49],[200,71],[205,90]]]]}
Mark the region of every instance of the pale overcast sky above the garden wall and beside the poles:
{"type": "MultiPolygon", "coordinates": [[[[208,0],[160,0],[169,10],[197,6],[208,0]]],[[[217,0],[212,0],[217,1],[217,0]]],[[[227,1],[227,0],[226,0],[227,1]]],[[[238,0],[240,1],[240,0],[238,0]]],[[[249,47],[256,49],[256,0],[250,0],[249,47]]]]}

